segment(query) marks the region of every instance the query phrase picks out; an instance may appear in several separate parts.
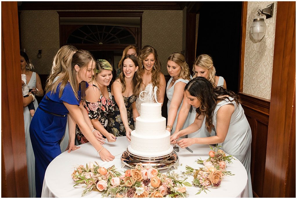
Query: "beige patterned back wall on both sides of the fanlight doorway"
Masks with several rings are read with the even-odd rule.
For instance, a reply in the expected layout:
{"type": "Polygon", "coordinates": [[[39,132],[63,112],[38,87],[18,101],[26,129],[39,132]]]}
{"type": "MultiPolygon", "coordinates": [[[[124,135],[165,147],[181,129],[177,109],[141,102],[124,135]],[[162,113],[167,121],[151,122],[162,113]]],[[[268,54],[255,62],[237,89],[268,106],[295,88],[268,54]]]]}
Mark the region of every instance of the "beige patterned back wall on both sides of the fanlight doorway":
{"type": "MultiPolygon", "coordinates": [[[[34,71],[49,74],[53,57],[60,47],[58,13],[56,10],[24,10],[20,15],[20,25],[22,48],[32,60],[34,71]],[[41,59],[37,58],[38,50],[42,50],[41,59]]],[[[182,51],[183,36],[182,10],[143,11],[142,46],[156,48],[164,74],[168,74],[168,56],[182,51]]]]}

